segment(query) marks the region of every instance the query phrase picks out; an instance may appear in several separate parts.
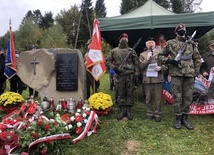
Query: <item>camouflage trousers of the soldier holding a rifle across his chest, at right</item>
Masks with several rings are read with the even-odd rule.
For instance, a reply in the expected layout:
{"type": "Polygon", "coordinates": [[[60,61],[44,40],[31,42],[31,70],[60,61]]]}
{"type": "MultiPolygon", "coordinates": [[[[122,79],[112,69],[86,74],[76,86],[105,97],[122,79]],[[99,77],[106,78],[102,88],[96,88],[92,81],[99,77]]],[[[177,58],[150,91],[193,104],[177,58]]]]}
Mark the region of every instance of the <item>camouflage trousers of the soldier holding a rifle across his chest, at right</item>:
{"type": "Polygon", "coordinates": [[[194,78],[172,77],[172,94],[174,97],[175,115],[188,114],[194,91],[194,78]]]}

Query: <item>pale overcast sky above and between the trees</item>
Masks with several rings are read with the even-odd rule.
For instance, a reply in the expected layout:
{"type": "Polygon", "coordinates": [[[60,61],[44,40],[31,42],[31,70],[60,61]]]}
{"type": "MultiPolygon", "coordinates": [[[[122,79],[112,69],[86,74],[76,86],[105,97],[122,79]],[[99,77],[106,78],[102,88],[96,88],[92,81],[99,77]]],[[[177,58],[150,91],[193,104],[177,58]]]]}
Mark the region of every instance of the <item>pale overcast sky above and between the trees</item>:
{"type": "MultiPolygon", "coordinates": [[[[93,1],[93,6],[96,0],[93,1]]],[[[39,9],[42,14],[47,11],[53,12],[54,16],[60,10],[67,10],[70,6],[80,5],[82,0],[1,0],[0,6],[0,36],[9,30],[9,19],[12,20],[12,30],[17,30],[21,20],[29,10],[39,9]]],[[[107,8],[107,17],[120,15],[121,0],[105,0],[107,8]]],[[[201,4],[202,11],[214,11],[213,0],[203,0],[201,4]]]]}

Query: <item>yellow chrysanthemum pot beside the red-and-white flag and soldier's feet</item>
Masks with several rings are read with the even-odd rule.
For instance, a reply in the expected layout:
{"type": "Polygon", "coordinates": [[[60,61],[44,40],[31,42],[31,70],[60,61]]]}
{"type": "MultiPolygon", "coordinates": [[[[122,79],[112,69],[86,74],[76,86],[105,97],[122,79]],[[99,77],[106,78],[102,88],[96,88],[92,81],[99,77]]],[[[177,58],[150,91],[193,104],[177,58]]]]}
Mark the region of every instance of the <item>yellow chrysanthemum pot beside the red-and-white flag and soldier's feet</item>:
{"type": "Polygon", "coordinates": [[[110,111],[110,107],[113,106],[112,98],[109,94],[95,93],[89,99],[89,108],[94,110],[97,114],[107,114],[110,111]]]}

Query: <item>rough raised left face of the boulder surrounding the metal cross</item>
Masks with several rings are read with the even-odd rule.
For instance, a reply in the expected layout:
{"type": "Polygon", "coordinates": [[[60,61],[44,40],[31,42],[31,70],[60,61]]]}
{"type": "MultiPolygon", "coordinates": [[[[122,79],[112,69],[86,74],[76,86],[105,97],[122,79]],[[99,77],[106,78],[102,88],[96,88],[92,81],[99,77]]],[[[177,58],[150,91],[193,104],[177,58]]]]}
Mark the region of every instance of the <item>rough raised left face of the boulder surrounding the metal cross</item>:
{"type": "Polygon", "coordinates": [[[17,61],[17,74],[21,80],[31,88],[41,91],[43,87],[48,86],[50,75],[55,71],[54,54],[48,52],[46,49],[38,49],[35,51],[21,52],[17,61]],[[34,61],[38,61],[34,65],[34,61]]]}

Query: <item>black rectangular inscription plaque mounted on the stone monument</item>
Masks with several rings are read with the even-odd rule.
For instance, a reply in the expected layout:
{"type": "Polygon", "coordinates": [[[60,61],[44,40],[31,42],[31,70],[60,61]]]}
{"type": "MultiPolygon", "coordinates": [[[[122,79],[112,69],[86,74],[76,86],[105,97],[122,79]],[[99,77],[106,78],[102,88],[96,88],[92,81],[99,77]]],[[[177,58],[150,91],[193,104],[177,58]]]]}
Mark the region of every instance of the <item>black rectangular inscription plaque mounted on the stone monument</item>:
{"type": "Polygon", "coordinates": [[[76,91],[78,89],[78,54],[56,54],[56,90],[76,91]]]}

